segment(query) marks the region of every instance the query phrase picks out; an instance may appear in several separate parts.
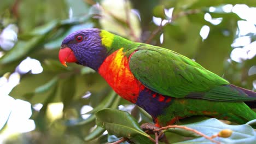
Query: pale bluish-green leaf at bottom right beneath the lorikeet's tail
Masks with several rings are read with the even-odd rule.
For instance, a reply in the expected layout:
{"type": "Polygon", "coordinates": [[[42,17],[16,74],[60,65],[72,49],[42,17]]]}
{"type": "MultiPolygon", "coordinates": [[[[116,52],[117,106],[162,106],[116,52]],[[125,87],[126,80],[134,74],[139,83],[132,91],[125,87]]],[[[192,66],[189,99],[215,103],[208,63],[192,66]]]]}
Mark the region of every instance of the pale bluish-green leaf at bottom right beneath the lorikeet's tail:
{"type": "MultiPolygon", "coordinates": [[[[206,134],[207,136],[212,136],[212,135],[218,134],[219,131],[222,131],[223,129],[232,130],[232,135],[230,137],[228,137],[228,138],[218,137],[218,138],[214,139],[214,140],[224,142],[224,143],[235,143],[238,141],[242,142],[242,143],[249,143],[252,140],[254,140],[254,141],[256,140],[256,132],[254,131],[254,129],[251,126],[249,126],[247,124],[228,125],[223,122],[220,122],[218,119],[211,118],[211,119],[207,119],[205,121],[201,121],[201,122],[197,122],[197,123],[185,124],[183,126],[200,131],[201,133],[206,134]],[[254,137],[254,138],[252,139],[252,137],[254,137]]],[[[190,136],[190,137],[198,136],[191,131],[188,131],[185,129],[179,129],[179,128],[175,128],[175,129],[170,128],[167,131],[176,133],[179,135],[187,136],[187,137],[188,136],[190,136]]],[[[184,143],[187,143],[187,142],[207,142],[207,141],[203,137],[203,139],[202,138],[194,139],[191,141],[185,141],[184,143]]]]}

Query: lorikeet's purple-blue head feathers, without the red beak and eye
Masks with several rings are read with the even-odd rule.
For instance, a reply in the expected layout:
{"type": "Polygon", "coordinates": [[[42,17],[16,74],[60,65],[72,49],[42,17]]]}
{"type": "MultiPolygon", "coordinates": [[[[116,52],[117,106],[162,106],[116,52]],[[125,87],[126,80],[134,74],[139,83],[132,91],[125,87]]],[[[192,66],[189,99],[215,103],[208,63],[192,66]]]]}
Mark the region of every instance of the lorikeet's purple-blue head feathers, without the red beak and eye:
{"type": "Polygon", "coordinates": [[[62,47],[69,47],[75,55],[78,64],[98,70],[107,57],[107,49],[101,43],[101,30],[87,28],[69,34],[63,41],[62,47]],[[78,42],[76,37],[81,35],[83,40],[78,42]]]}

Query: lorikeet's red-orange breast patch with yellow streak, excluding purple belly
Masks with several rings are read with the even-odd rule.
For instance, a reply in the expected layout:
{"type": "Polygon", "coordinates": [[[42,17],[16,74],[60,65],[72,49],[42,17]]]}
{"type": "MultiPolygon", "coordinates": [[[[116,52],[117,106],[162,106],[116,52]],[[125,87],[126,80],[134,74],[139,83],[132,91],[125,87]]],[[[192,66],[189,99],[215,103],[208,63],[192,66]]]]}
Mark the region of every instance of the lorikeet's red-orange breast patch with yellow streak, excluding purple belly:
{"type": "Polygon", "coordinates": [[[131,73],[129,58],[123,48],[109,55],[98,69],[98,73],[122,98],[136,103],[140,89],[144,86],[131,73]]]}

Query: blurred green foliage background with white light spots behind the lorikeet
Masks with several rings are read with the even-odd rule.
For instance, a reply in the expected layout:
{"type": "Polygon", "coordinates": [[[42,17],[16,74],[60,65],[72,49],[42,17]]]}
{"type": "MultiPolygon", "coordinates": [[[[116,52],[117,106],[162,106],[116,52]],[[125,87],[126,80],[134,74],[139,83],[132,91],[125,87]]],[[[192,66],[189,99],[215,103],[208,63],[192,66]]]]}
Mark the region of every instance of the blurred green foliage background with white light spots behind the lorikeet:
{"type": "MultiPolygon", "coordinates": [[[[255,90],[253,7],[256,1],[249,0],[1,0],[0,112],[5,113],[0,116],[0,142],[116,141],[95,125],[94,113],[106,107],[129,111],[139,124],[152,122],[94,70],[59,63],[61,41],[82,28],[102,28],[166,47],[234,85],[255,90]]],[[[170,136],[171,143],[184,140],[170,136]]]]}

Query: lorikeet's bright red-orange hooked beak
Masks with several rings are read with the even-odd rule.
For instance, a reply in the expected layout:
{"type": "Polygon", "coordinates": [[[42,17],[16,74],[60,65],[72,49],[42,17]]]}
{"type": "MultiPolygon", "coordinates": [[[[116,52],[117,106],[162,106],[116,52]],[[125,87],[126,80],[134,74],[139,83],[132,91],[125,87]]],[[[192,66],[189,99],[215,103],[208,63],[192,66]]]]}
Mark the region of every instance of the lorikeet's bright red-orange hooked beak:
{"type": "Polygon", "coordinates": [[[69,47],[64,47],[64,48],[60,49],[59,60],[60,60],[61,64],[63,64],[65,67],[67,67],[67,64],[66,64],[67,62],[68,63],[77,62],[74,52],[69,47]]]}

